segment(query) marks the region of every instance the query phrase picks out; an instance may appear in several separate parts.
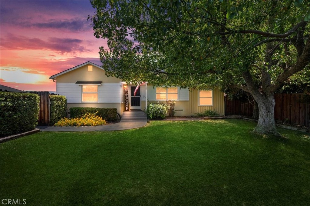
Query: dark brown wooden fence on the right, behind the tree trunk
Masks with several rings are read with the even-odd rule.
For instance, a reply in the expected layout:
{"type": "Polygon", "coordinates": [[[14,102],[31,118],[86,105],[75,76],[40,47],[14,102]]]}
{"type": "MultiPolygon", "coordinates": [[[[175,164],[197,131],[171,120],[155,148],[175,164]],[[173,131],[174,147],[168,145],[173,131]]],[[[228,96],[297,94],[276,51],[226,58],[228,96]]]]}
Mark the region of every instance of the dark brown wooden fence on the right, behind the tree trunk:
{"type": "MultiPolygon", "coordinates": [[[[310,102],[309,96],[304,94],[275,94],[276,105],[274,119],[278,123],[290,123],[309,126],[310,102]]],[[[253,101],[250,99],[250,101],[253,101]]],[[[225,96],[225,115],[253,115],[253,105],[249,100],[228,100],[225,96]]]]}

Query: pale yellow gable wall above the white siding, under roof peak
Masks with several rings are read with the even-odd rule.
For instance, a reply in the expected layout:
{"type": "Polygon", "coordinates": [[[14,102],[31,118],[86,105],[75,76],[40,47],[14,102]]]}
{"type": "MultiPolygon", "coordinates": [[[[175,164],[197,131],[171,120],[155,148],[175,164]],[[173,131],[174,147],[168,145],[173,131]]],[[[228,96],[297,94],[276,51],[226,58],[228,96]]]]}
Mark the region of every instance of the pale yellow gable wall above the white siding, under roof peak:
{"type": "Polygon", "coordinates": [[[76,83],[77,81],[102,81],[102,83],[119,83],[122,80],[115,77],[107,77],[105,71],[96,66],[92,66],[92,71],[88,71],[88,65],[69,71],[56,77],[58,83],[76,83]]]}

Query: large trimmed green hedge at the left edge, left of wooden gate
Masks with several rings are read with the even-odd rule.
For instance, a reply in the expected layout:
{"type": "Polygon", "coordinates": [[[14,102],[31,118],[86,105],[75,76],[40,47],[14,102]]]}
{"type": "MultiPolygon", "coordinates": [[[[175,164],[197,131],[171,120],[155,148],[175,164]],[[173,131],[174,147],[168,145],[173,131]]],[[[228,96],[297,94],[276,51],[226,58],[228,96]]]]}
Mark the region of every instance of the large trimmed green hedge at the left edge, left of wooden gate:
{"type": "Polygon", "coordinates": [[[0,92],[1,136],[33,130],[38,124],[37,94],[0,92]]]}

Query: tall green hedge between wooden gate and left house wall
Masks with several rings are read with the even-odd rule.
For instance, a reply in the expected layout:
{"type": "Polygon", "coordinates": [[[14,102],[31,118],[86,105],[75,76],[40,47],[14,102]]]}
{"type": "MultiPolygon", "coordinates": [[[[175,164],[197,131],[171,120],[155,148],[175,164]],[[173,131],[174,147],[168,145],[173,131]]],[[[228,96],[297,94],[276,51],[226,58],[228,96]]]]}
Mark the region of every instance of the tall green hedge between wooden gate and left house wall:
{"type": "Polygon", "coordinates": [[[50,95],[50,103],[50,125],[54,125],[67,116],[67,99],[66,96],[50,95]]]}

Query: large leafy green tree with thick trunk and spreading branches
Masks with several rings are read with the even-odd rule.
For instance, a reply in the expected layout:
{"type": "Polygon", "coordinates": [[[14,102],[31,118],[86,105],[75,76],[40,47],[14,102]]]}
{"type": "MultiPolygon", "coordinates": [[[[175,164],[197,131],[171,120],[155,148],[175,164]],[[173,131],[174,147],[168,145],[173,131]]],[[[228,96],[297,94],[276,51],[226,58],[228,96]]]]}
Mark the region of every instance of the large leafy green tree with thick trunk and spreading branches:
{"type": "Polygon", "coordinates": [[[127,82],[249,92],[255,132],[278,134],[274,92],[309,69],[310,1],[91,1],[107,73],[127,82]]]}

